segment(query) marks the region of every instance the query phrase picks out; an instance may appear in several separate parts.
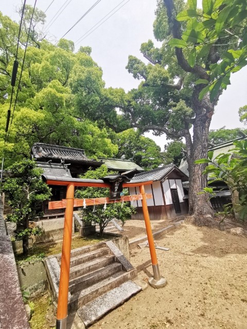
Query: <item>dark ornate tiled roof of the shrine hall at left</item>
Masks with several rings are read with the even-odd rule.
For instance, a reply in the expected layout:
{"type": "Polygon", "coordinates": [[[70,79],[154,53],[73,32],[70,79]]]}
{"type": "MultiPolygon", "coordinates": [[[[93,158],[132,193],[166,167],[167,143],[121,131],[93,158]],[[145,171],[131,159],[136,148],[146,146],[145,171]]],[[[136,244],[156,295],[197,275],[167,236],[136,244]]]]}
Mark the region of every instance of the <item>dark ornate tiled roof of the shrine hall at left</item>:
{"type": "MultiPolygon", "coordinates": [[[[34,159],[63,159],[68,161],[80,161],[80,162],[95,162],[85,156],[85,153],[81,149],[67,148],[59,145],[51,145],[44,143],[35,143],[32,147],[32,154],[34,159]]],[[[99,163],[100,165],[100,163],[99,163]]]]}

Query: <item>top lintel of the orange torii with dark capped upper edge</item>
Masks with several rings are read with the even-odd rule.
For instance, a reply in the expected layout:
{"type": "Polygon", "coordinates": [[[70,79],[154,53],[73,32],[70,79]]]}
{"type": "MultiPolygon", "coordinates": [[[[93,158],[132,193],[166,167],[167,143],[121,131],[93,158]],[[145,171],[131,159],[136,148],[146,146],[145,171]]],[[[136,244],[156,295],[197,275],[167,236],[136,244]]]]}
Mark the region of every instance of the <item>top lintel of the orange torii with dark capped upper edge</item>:
{"type": "MultiPolygon", "coordinates": [[[[49,176],[49,175],[42,175],[42,179],[48,185],[60,185],[60,186],[68,186],[73,184],[74,186],[81,186],[81,187],[101,187],[101,188],[110,188],[111,184],[105,182],[102,179],[85,179],[85,178],[69,178],[69,177],[58,177],[58,176],[49,176]]],[[[152,184],[152,180],[149,181],[140,181],[136,180],[134,182],[125,182],[123,183],[122,187],[137,187],[142,185],[150,185],[152,184]]]]}

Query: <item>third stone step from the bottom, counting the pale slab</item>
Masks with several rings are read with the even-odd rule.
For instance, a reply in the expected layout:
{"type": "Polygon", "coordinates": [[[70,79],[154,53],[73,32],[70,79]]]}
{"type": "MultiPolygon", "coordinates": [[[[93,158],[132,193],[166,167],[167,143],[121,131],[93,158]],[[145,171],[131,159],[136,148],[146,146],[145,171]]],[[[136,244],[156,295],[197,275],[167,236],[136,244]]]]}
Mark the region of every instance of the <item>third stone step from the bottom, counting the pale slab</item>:
{"type": "Polygon", "coordinates": [[[92,286],[93,284],[108,278],[115,273],[122,270],[122,265],[120,263],[112,263],[110,265],[101,267],[92,271],[90,273],[86,273],[85,275],[71,280],[69,282],[69,291],[70,294],[75,294],[77,291],[85,289],[92,286]]]}

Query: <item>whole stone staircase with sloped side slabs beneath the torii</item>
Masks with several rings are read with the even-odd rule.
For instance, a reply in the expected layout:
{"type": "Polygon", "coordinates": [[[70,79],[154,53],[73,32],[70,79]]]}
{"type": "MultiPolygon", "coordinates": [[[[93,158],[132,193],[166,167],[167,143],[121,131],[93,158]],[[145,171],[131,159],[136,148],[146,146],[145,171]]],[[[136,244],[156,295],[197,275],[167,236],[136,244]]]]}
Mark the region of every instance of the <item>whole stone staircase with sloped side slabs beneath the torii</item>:
{"type": "MultiPolygon", "coordinates": [[[[58,300],[61,254],[45,261],[55,301],[58,300]]],[[[68,313],[77,314],[86,326],[125,302],[141,288],[131,279],[136,269],[112,241],[71,251],[68,313]]]]}

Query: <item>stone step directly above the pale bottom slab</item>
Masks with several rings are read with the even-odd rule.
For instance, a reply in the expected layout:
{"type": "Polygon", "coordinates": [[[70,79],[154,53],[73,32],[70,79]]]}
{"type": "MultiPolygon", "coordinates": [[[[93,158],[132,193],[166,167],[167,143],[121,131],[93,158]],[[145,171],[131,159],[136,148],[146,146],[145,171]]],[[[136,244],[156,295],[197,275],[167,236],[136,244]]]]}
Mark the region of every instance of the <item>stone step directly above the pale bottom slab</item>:
{"type": "Polygon", "coordinates": [[[129,272],[120,271],[107,279],[104,279],[90,287],[83,289],[78,294],[74,294],[68,301],[69,311],[71,312],[72,310],[78,309],[82,305],[91,302],[95,298],[107,293],[113,288],[116,288],[120,284],[131,280],[135,276],[136,270],[131,270],[129,272]]]}

